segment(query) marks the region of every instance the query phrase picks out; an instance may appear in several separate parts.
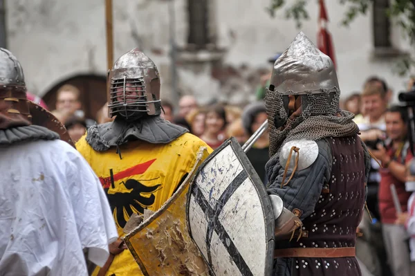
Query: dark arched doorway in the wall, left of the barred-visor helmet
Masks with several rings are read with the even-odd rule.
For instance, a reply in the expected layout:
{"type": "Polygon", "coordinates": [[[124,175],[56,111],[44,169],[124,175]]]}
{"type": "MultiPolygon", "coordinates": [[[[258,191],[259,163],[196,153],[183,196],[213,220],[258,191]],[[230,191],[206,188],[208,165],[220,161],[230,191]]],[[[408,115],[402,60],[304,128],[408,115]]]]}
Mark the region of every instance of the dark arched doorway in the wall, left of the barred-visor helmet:
{"type": "Polygon", "coordinates": [[[56,92],[64,84],[72,84],[80,89],[80,100],[86,118],[95,120],[96,113],[107,102],[107,77],[104,75],[75,75],[57,82],[42,99],[49,109],[55,109],[56,92]]]}

